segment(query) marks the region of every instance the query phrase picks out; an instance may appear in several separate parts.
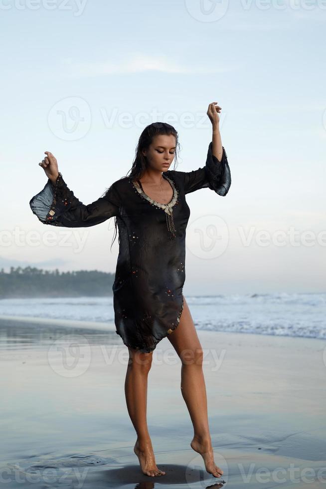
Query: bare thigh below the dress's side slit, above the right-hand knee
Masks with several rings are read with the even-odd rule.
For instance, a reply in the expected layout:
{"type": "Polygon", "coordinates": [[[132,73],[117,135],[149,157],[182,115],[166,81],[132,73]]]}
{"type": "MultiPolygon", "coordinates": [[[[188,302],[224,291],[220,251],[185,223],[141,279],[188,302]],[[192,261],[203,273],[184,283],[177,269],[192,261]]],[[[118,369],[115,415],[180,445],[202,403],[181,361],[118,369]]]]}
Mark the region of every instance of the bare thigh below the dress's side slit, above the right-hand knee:
{"type": "Polygon", "coordinates": [[[191,317],[188,304],[183,296],[183,310],[177,328],[167,335],[167,339],[180,356],[183,350],[195,352],[201,349],[195,325],[191,317]]]}

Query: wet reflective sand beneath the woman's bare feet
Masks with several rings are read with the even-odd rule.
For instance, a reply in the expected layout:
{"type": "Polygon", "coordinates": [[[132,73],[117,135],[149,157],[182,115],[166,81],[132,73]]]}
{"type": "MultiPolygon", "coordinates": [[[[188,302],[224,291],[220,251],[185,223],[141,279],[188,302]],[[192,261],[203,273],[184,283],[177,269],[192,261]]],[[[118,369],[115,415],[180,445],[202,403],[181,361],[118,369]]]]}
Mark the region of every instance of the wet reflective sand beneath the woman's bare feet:
{"type": "Polygon", "coordinates": [[[73,323],[0,318],[1,486],[326,486],[325,341],[198,331],[224,471],[215,479],[189,445],[180,361],[163,339],[149,375],[148,425],[166,475],[149,478],[133,452],[128,349],[113,325],[73,323]]]}

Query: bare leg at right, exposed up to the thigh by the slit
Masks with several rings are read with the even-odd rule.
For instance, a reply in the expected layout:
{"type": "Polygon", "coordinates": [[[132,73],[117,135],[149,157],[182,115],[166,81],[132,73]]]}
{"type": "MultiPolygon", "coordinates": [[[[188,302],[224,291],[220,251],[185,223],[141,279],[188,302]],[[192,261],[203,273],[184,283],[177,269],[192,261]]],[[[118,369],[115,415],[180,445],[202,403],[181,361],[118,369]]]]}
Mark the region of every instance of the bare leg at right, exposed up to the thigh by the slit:
{"type": "Polygon", "coordinates": [[[200,453],[206,471],[221,477],[223,471],[215,465],[208,427],[207,396],[202,370],[202,349],[197,331],[184,299],[183,311],[177,328],[167,336],[181,360],[181,393],[193,424],[191,448],[200,453]]]}

